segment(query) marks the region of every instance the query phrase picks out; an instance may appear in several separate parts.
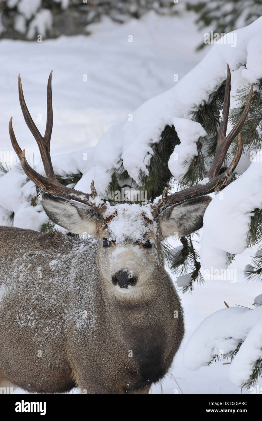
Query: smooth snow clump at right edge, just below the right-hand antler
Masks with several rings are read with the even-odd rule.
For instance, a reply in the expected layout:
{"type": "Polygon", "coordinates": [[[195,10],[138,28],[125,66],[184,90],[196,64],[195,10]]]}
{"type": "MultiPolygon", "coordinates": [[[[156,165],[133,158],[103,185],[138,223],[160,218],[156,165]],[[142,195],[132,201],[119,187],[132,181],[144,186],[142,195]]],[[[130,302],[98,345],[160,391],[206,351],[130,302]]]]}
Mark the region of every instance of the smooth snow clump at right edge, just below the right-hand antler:
{"type": "Polygon", "coordinates": [[[226,269],[227,253],[245,250],[255,208],[262,208],[262,163],[259,161],[253,161],[206,209],[201,239],[201,262],[205,269],[226,269]]]}

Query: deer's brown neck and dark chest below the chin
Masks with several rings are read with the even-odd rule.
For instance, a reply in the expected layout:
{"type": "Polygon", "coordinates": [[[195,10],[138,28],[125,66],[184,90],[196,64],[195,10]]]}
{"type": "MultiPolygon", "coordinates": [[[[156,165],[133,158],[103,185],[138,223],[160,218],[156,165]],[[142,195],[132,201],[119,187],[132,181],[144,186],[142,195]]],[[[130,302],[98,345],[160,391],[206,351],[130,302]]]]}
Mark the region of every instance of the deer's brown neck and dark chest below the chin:
{"type": "Polygon", "coordinates": [[[169,354],[173,355],[168,346],[175,321],[172,300],[172,286],[163,267],[155,270],[152,282],[140,296],[123,294],[121,300],[112,296],[105,299],[107,332],[122,355],[124,367],[128,361],[134,373],[139,373],[131,381],[134,387],[158,381],[166,373],[169,354]]]}

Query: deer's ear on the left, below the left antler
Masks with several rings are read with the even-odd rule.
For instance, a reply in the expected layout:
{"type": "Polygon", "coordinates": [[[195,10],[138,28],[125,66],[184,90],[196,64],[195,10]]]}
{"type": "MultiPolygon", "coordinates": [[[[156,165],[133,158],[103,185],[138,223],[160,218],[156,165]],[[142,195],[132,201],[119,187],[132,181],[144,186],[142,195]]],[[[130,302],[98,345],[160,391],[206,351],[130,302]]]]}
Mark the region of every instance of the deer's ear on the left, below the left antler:
{"type": "Polygon", "coordinates": [[[47,193],[42,195],[41,203],[45,213],[55,224],[74,234],[98,234],[99,216],[89,206],[47,193]]]}

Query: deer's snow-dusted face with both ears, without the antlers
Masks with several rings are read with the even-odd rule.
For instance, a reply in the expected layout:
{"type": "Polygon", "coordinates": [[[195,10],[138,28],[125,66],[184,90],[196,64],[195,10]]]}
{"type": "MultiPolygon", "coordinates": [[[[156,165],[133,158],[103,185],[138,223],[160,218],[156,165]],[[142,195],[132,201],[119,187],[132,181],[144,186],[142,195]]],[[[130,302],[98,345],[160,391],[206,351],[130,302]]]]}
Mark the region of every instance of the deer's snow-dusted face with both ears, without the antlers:
{"type": "Polygon", "coordinates": [[[92,208],[59,197],[45,194],[42,204],[56,224],[98,238],[97,267],[107,291],[136,294],[154,281],[155,270],[164,265],[161,240],[199,229],[210,200],[201,197],[170,206],[156,220],[148,206],[119,204],[109,208],[107,222],[92,208]]]}

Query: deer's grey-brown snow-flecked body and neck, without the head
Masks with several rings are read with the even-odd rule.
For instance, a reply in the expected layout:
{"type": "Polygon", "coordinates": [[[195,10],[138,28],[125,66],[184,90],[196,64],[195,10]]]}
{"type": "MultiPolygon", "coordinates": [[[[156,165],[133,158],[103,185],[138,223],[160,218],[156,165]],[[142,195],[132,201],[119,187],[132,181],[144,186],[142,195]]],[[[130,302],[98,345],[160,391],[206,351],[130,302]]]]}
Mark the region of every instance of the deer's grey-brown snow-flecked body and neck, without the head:
{"type": "Polygon", "coordinates": [[[2,378],[33,392],[146,393],[166,373],[183,316],[163,261],[139,299],[112,299],[97,248],[93,239],[1,227],[2,378]]]}

